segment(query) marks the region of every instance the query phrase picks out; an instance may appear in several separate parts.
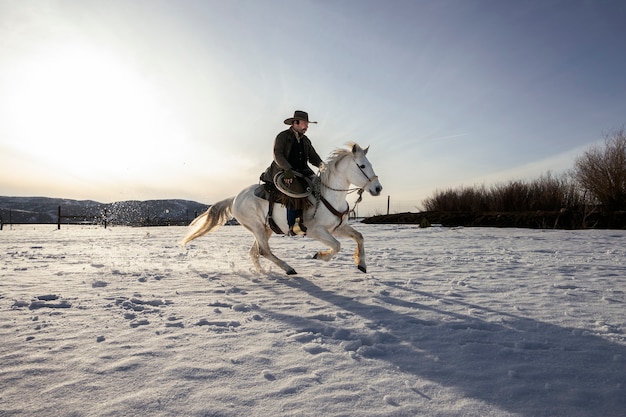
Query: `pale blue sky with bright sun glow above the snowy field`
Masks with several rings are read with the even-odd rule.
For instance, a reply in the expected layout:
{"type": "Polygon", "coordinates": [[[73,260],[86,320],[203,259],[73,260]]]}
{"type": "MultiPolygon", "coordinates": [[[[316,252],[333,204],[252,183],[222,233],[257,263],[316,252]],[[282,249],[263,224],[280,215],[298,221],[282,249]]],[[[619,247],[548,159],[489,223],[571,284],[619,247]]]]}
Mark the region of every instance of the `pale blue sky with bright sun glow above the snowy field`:
{"type": "Polygon", "coordinates": [[[211,204],[296,109],[363,210],[571,169],[626,123],[626,2],[0,0],[0,195],[211,204]]]}

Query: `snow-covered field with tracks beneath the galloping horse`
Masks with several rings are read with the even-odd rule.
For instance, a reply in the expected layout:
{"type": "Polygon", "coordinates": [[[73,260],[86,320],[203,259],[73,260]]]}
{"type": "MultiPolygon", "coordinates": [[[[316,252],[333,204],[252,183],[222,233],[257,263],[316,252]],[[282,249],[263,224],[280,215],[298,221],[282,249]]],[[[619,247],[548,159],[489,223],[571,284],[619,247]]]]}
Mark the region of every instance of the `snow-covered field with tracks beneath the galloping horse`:
{"type": "Polygon", "coordinates": [[[625,416],[626,231],[5,226],[0,416],[625,416]]]}

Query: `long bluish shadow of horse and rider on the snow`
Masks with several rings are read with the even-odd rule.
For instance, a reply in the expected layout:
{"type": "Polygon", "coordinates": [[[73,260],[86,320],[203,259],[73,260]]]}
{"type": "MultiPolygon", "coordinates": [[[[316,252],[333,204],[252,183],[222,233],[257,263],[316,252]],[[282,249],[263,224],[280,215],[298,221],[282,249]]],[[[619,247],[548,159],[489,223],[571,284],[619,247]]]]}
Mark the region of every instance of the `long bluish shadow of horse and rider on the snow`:
{"type": "MultiPolygon", "coordinates": [[[[424,321],[381,305],[365,304],[304,278],[284,284],[374,323],[382,333],[370,342],[374,346],[369,356],[418,378],[460,390],[467,397],[528,417],[617,417],[626,410],[626,349],[601,337],[427,292],[411,290],[436,299],[437,307],[385,295],[374,298],[416,314],[428,311],[429,317],[440,316],[438,320],[424,321]],[[454,304],[498,315],[500,320],[489,322],[446,310],[446,305],[454,304]]],[[[324,330],[328,323],[320,327],[315,318],[268,314],[303,331],[317,330],[342,338],[324,330]]],[[[346,337],[346,332],[339,334],[346,337]]],[[[368,357],[368,350],[363,352],[368,357]]]]}

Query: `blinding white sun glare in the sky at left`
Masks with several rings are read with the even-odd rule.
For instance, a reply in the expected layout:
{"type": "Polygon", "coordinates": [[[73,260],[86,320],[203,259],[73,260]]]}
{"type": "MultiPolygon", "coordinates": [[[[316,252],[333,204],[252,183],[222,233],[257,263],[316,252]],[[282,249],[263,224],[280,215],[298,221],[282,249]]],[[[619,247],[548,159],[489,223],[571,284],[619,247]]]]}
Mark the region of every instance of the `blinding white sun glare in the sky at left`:
{"type": "Polygon", "coordinates": [[[136,175],[182,139],[161,92],[104,50],[57,45],[8,79],[11,146],[68,174],[136,175]]]}

